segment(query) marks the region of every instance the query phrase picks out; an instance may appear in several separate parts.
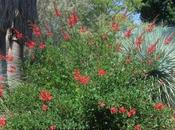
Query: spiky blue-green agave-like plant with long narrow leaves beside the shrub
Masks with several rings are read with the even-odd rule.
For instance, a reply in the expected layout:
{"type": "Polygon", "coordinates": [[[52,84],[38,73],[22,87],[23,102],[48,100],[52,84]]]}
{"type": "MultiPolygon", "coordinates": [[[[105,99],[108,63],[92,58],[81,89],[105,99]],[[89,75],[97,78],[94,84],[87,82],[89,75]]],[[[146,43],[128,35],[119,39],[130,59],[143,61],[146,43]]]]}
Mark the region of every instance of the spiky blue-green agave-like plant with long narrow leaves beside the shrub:
{"type": "Polygon", "coordinates": [[[122,52],[127,55],[137,52],[134,53],[136,58],[153,61],[155,67],[147,72],[147,76],[158,78],[158,99],[168,106],[175,106],[175,28],[157,26],[146,30],[148,26],[133,29],[131,37],[120,33],[122,52]]]}

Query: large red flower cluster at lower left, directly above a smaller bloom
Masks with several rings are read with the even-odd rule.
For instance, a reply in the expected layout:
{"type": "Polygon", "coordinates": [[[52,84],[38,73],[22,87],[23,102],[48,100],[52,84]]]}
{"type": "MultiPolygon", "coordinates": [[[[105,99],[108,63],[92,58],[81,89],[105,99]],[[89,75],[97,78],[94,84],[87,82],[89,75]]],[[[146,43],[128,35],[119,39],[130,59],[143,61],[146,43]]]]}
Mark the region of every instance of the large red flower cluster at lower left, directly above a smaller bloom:
{"type": "Polygon", "coordinates": [[[40,99],[43,101],[43,102],[47,102],[47,101],[50,101],[52,100],[52,95],[49,91],[47,90],[41,90],[40,92],[40,99]]]}

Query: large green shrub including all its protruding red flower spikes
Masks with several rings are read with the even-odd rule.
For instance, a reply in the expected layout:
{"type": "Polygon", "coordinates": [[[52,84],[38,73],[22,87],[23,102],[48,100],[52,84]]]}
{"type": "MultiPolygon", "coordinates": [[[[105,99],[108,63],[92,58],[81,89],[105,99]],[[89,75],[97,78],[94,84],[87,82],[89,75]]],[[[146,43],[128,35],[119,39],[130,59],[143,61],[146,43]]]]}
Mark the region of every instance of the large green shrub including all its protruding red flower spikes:
{"type": "MultiPolygon", "coordinates": [[[[55,4],[54,11],[55,16],[62,16],[55,4]]],[[[142,46],[145,32],[152,32],[154,24],[135,35],[133,27],[113,20],[102,21],[104,25],[99,23],[98,29],[90,30],[79,25],[80,18],[73,9],[66,28],[61,30],[59,45],[53,43],[54,32],[47,23],[45,34],[38,25],[31,25],[36,39],[25,44],[35,53],[25,57],[25,83],[14,92],[6,91],[5,96],[4,88],[0,89],[0,97],[4,98],[0,127],[173,129],[171,108],[158,98],[162,78],[148,76],[158,66],[150,58],[159,39],[142,46]],[[143,52],[150,57],[140,58],[143,52]]],[[[23,37],[16,33],[18,38],[23,37]]],[[[164,40],[167,45],[172,38],[164,40]]],[[[157,55],[155,59],[159,59],[157,55]]],[[[15,67],[9,71],[15,71],[15,67]]]]}

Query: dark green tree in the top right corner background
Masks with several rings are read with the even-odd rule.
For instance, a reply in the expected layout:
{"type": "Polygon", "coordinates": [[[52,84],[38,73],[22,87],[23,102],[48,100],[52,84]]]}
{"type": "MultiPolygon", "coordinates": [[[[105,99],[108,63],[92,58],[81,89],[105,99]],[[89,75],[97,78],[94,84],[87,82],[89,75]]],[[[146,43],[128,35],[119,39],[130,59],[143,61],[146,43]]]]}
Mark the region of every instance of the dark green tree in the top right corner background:
{"type": "Polygon", "coordinates": [[[175,24],[174,0],[142,0],[139,12],[141,13],[141,20],[144,22],[151,22],[158,16],[156,23],[175,24]]]}

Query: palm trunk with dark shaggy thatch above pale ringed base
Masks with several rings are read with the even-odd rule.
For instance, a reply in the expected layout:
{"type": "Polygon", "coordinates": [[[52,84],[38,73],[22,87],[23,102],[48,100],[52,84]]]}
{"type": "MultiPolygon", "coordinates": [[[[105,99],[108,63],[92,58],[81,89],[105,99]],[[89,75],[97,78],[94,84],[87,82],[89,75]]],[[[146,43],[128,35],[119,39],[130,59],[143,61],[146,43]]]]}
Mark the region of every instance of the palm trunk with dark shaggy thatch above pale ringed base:
{"type": "Polygon", "coordinates": [[[28,25],[37,18],[36,4],[37,0],[0,0],[0,53],[14,57],[13,61],[7,63],[0,61],[0,74],[7,76],[8,84],[12,87],[16,86],[14,82],[21,79],[24,42],[32,38],[28,25]],[[12,27],[23,33],[25,39],[16,39],[8,31],[12,27]]]}

